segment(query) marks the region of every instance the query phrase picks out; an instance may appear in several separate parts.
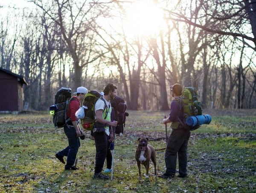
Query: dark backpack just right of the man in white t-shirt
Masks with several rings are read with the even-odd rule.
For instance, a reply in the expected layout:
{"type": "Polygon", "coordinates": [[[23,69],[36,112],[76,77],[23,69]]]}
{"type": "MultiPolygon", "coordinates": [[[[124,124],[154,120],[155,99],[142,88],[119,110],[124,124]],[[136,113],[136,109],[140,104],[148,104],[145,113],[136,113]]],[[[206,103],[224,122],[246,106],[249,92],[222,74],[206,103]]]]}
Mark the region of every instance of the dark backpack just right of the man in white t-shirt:
{"type": "Polygon", "coordinates": [[[115,98],[111,100],[111,106],[114,108],[113,112],[115,113],[116,121],[118,121],[115,133],[117,135],[122,135],[122,133],[124,133],[126,116],[129,115],[125,112],[127,105],[125,104],[124,99],[119,96],[115,96],[115,98]]]}

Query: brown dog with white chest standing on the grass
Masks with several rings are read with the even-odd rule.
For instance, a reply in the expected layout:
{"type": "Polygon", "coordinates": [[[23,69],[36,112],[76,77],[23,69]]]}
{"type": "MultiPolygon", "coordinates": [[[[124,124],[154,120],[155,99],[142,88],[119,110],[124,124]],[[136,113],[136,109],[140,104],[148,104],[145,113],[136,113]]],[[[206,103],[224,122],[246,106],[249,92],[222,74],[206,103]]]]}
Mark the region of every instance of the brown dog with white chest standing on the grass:
{"type": "Polygon", "coordinates": [[[154,163],[155,176],[157,176],[157,157],[154,148],[148,145],[148,138],[139,138],[138,146],[135,152],[135,159],[139,168],[139,177],[141,177],[140,164],[146,168],[146,178],[148,178],[149,160],[154,163]]]}

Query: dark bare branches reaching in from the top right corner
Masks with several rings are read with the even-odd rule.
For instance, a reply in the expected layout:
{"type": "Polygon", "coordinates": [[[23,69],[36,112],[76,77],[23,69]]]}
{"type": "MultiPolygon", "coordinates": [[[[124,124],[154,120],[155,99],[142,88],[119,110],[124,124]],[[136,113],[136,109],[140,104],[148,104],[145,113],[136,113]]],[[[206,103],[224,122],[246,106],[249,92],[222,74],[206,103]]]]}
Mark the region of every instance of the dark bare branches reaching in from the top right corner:
{"type": "MultiPolygon", "coordinates": [[[[247,40],[244,42],[248,47],[256,50],[256,0],[193,0],[192,4],[201,4],[201,11],[205,14],[201,14],[203,17],[211,17],[210,19],[218,23],[218,28],[216,26],[208,26],[207,23],[202,24],[198,21],[191,20],[183,13],[178,13],[177,11],[166,10],[171,14],[170,19],[188,23],[191,26],[201,28],[204,31],[211,33],[239,37],[239,40],[247,40]],[[207,7],[208,9],[204,9],[207,7]],[[248,31],[247,24],[251,26],[251,33],[254,37],[247,35],[248,31]],[[227,26],[230,26],[227,28],[227,26]],[[251,45],[251,43],[254,44],[251,45]]],[[[198,11],[198,7],[195,7],[195,11],[198,11]]]]}

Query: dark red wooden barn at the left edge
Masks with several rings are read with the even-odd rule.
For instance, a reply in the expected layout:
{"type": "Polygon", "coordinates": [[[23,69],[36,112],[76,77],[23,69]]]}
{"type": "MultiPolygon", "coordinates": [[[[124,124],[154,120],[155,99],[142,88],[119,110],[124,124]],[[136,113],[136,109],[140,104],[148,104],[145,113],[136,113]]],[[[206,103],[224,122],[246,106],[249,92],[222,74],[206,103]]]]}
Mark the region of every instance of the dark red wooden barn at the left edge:
{"type": "Polygon", "coordinates": [[[23,111],[24,77],[0,68],[0,111],[23,111]]]}

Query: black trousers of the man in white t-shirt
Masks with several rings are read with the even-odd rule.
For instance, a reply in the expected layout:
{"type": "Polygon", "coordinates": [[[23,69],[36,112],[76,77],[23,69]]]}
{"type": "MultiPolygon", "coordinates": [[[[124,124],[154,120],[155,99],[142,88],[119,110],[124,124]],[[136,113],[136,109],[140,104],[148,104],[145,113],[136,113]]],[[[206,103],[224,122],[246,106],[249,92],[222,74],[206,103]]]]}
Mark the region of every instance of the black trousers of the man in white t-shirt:
{"type": "Polygon", "coordinates": [[[96,146],[96,160],[95,160],[95,170],[94,173],[100,173],[102,171],[108,148],[108,136],[103,132],[93,133],[96,146]]]}

